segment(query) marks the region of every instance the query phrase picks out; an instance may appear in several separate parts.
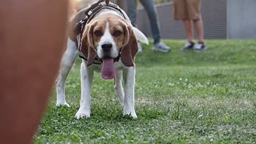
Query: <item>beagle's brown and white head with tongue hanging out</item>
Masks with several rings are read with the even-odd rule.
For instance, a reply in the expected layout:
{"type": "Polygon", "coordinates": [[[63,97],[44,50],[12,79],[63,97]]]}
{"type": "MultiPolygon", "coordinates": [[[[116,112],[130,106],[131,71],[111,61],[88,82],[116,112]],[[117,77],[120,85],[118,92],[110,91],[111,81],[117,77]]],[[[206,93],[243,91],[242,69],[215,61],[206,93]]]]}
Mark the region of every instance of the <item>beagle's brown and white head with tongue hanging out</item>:
{"type": "Polygon", "coordinates": [[[132,67],[135,64],[138,43],[134,28],[120,16],[101,15],[85,26],[80,51],[88,59],[88,66],[98,56],[103,62],[102,71],[106,72],[102,73],[102,77],[113,79],[114,59],[119,53],[124,65],[132,67]]]}

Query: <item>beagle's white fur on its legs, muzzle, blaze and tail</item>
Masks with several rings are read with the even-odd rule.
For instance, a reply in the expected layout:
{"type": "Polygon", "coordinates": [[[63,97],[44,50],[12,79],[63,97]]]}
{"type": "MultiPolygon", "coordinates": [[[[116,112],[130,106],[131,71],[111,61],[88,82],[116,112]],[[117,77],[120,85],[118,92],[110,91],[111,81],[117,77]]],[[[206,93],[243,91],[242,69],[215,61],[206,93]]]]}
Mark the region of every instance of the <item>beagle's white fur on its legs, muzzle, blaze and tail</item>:
{"type": "MultiPolygon", "coordinates": [[[[111,13],[113,13],[113,11],[111,13]]],[[[140,32],[137,28],[133,28],[133,31],[136,34],[136,37],[139,41],[148,44],[148,39],[142,32],[140,32]]],[[[117,44],[115,44],[113,36],[110,34],[108,23],[106,23],[106,30],[97,46],[97,55],[100,58],[103,57],[101,45],[104,43],[111,43],[113,45],[112,49],[110,50],[112,57],[117,57],[119,55],[117,50],[117,44]]],[[[72,68],[72,65],[75,62],[75,59],[79,56],[79,54],[82,55],[82,53],[79,53],[76,44],[71,39],[68,39],[67,50],[62,57],[59,76],[56,80],[57,106],[66,105],[69,107],[65,99],[65,81],[69,74],[69,71],[72,68]]],[[[123,106],[123,115],[130,115],[133,118],[137,118],[134,101],[136,73],[135,66],[126,67],[121,61],[119,61],[114,63],[114,67],[117,71],[117,74],[115,75],[114,88],[117,91],[120,103],[123,106]],[[124,89],[121,83],[122,77],[124,80],[124,89]]],[[[94,71],[100,72],[101,65],[92,64],[90,67],[87,67],[87,61],[83,59],[83,62],[80,67],[82,97],[80,100],[80,108],[78,112],[75,114],[75,118],[77,119],[83,117],[90,117],[91,87],[94,71]]]]}

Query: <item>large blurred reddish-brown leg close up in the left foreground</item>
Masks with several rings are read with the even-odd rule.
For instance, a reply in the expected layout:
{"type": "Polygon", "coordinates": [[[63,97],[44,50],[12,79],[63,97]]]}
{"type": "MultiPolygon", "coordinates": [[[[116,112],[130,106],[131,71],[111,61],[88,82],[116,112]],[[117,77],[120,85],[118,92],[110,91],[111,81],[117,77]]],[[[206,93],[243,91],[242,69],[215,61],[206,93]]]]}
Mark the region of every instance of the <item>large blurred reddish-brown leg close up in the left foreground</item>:
{"type": "Polygon", "coordinates": [[[31,143],[59,70],[67,1],[0,1],[0,17],[0,142],[31,143]]]}

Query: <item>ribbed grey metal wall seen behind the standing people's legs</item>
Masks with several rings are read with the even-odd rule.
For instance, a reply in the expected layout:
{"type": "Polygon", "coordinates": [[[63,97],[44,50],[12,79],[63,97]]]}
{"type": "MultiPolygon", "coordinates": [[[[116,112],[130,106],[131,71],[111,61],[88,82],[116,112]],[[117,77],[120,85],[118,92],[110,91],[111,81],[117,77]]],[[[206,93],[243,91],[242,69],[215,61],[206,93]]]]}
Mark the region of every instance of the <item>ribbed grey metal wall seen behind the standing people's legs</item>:
{"type": "MultiPolygon", "coordinates": [[[[186,39],[183,22],[174,21],[172,3],[159,4],[159,22],[162,38],[165,39],[186,39]]],[[[205,39],[226,39],[227,38],[227,0],[202,0],[201,13],[205,27],[205,39]]],[[[150,23],[144,9],[137,13],[139,29],[148,37],[151,36],[150,23]]],[[[195,34],[196,36],[196,34],[195,34]]]]}

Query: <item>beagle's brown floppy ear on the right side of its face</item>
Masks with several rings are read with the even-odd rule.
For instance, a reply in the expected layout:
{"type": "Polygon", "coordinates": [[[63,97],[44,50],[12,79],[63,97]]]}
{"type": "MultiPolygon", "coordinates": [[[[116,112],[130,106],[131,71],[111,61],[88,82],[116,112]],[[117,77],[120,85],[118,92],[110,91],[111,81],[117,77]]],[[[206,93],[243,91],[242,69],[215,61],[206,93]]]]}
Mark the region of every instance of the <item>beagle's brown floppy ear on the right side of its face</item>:
{"type": "Polygon", "coordinates": [[[125,39],[124,47],[121,50],[121,61],[127,67],[135,65],[135,56],[138,52],[138,42],[130,23],[124,26],[125,39]]]}

